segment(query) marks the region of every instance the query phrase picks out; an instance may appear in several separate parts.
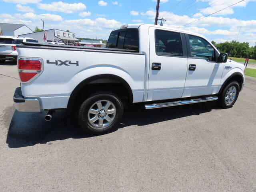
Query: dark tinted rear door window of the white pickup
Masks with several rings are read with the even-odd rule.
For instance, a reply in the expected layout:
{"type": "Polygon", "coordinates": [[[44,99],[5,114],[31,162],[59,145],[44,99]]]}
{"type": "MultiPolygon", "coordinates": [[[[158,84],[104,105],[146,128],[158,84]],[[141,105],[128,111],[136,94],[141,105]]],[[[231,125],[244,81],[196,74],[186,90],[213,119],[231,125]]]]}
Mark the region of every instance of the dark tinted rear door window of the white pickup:
{"type": "Polygon", "coordinates": [[[159,56],[183,56],[180,33],[156,30],[155,46],[159,56]]]}

